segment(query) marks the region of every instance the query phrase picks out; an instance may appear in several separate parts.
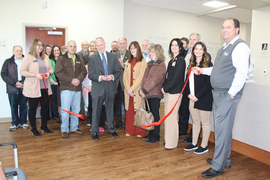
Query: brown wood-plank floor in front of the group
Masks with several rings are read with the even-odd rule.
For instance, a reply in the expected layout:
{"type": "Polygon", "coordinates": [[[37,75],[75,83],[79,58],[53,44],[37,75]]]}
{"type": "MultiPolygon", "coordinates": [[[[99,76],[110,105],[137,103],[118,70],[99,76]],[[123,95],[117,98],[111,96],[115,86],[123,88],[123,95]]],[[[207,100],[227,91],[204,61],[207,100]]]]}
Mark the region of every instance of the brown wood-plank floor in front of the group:
{"type": "MultiPolygon", "coordinates": [[[[164,116],[164,106],[161,106],[164,116]]],[[[41,120],[37,120],[40,131],[41,120]]],[[[107,125],[98,141],[93,141],[91,126],[79,122],[84,134],[68,133],[61,138],[60,125],[55,120],[48,121],[54,134],[42,133],[35,137],[30,129],[19,128],[8,131],[9,123],[0,123],[0,143],[15,142],[18,146],[19,168],[24,170],[28,180],[88,180],[88,179],[207,179],[201,173],[210,165],[207,158],[213,158],[214,143],[208,143],[209,151],[197,155],[194,151],[184,151],[188,144],[185,137],[179,138],[178,147],[165,149],[164,123],[161,124],[161,140],[147,144],[136,136],[126,137],[123,128],[116,130],[119,138],[108,134],[107,125]]],[[[146,133],[147,135],[147,133],[146,133]]],[[[201,138],[198,144],[201,143],[201,138]]],[[[225,169],[215,180],[270,179],[270,166],[232,151],[232,168],[225,169]]],[[[0,161],[3,168],[14,167],[13,148],[0,147],[0,161]]]]}

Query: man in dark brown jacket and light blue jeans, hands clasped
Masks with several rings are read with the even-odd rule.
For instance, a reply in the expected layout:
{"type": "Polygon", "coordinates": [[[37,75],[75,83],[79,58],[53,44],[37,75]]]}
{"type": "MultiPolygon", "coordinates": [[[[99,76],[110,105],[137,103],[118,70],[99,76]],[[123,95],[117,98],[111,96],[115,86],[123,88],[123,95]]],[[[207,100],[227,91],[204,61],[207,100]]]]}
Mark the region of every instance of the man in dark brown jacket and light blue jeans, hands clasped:
{"type": "MultiPolygon", "coordinates": [[[[71,40],[67,44],[67,52],[60,56],[55,63],[55,75],[60,81],[61,105],[62,109],[69,111],[70,106],[73,113],[79,113],[82,81],[87,75],[84,61],[75,52],[77,50],[76,42],[71,40]]],[[[67,138],[69,113],[61,110],[61,132],[62,137],[67,138]]],[[[70,132],[83,134],[78,129],[79,120],[77,116],[71,115],[70,132]]]]}

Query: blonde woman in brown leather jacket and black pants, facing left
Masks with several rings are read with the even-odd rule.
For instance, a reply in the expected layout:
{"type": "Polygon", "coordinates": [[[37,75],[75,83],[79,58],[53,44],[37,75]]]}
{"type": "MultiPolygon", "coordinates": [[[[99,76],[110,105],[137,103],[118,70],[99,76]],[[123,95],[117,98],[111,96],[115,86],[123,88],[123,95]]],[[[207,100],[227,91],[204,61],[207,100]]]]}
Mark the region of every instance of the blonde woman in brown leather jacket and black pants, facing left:
{"type": "MultiPolygon", "coordinates": [[[[158,122],[160,120],[160,100],[164,98],[161,92],[161,88],[166,74],[166,65],[164,63],[165,56],[164,50],[159,44],[150,46],[149,51],[149,57],[152,59],[152,61],[149,61],[147,63],[147,68],[143,75],[143,80],[139,93],[140,96],[146,98],[146,101],[148,101],[149,103],[150,110],[148,109],[147,105],[146,110],[151,111],[154,116],[155,122],[158,122]]],[[[148,140],[146,142],[148,144],[159,142],[159,132],[160,125],[155,126],[155,129],[149,131],[149,134],[146,137],[143,137],[143,139],[148,140]]]]}

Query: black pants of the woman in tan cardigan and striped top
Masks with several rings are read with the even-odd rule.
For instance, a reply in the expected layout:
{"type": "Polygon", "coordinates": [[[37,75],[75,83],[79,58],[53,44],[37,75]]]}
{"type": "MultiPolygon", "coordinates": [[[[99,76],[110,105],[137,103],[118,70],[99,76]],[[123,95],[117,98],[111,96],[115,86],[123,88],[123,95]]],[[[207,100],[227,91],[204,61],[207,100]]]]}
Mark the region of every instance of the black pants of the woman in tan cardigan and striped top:
{"type": "Polygon", "coordinates": [[[28,108],[28,119],[32,128],[36,127],[36,113],[38,108],[38,102],[40,101],[41,110],[41,125],[47,125],[47,115],[50,98],[47,94],[46,89],[41,89],[41,97],[38,98],[28,98],[29,108],[28,108]]]}

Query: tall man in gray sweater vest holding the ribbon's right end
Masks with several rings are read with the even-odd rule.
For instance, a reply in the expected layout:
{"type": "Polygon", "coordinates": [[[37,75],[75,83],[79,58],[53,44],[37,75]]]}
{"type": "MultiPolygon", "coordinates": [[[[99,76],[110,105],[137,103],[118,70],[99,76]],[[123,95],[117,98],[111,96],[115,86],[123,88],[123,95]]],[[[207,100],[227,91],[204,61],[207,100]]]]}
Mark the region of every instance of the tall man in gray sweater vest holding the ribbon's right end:
{"type": "Polygon", "coordinates": [[[213,159],[207,159],[211,168],[202,176],[213,178],[231,168],[232,128],[244,84],[248,78],[250,49],[239,38],[239,21],[228,18],[223,22],[221,35],[225,41],[217,52],[214,66],[195,67],[194,73],[211,75],[210,81],[214,100],[215,152],[213,159]]]}

